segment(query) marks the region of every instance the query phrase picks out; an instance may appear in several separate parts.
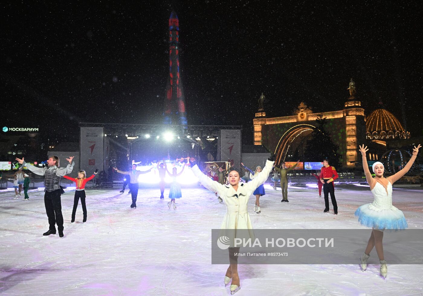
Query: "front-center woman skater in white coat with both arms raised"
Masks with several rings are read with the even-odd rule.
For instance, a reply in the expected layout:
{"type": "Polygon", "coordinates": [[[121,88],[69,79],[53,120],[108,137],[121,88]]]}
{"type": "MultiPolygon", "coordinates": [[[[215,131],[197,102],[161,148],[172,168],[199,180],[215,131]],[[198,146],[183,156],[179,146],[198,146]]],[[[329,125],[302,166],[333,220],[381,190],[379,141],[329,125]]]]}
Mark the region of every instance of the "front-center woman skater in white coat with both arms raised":
{"type": "MultiPolygon", "coordinates": [[[[229,237],[236,236],[237,229],[247,229],[247,232],[254,241],[255,236],[253,232],[253,226],[251,225],[250,216],[247,212],[248,200],[253,191],[261,184],[266,182],[269,177],[269,173],[272,170],[274,163],[274,156],[266,161],[266,166],[263,171],[257,174],[257,176],[248,183],[239,184],[240,171],[235,168],[230,168],[228,174],[228,185],[222,185],[217,181],[213,181],[205,174],[201,172],[198,166],[195,164],[195,160],[191,158],[190,165],[192,172],[201,182],[201,184],[207,189],[217,192],[217,194],[223,199],[226,205],[226,214],[223,217],[223,222],[220,227],[221,231],[228,234],[229,237]],[[230,233],[230,234],[229,234],[230,233]]],[[[239,253],[239,247],[229,248],[229,261],[230,265],[225,275],[225,285],[231,282],[231,294],[235,293],[240,289],[239,287],[239,276],[238,276],[238,256],[235,253],[239,253]]]]}

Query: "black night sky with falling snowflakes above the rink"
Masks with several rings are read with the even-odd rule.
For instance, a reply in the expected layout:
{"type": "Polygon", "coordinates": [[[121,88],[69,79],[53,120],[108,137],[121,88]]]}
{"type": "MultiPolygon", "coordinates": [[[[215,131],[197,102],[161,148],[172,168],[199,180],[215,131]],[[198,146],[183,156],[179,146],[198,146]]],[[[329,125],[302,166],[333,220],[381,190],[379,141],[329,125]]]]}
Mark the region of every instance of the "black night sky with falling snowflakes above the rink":
{"type": "Polygon", "coordinates": [[[9,2],[2,126],[77,137],[78,122],[161,124],[174,10],[188,124],[243,125],[253,144],[261,92],[268,117],[301,101],[340,110],[352,77],[367,115],[384,106],[421,135],[421,1],[9,2]]]}

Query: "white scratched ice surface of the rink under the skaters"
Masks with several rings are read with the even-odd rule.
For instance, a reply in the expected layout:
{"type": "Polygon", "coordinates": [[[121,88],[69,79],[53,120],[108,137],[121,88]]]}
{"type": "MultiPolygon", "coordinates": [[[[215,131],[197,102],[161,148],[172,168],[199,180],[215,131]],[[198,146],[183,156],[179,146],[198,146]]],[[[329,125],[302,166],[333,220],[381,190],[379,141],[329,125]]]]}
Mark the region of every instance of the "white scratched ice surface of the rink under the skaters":
{"type": "MultiPolygon", "coordinates": [[[[368,187],[339,185],[339,215],[323,213],[317,189],[265,185],[254,228],[363,228],[354,211],[373,200],[368,187]]],[[[225,206],[203,188],[182,188],[177,209],[159,199],[158,189],[141,189],[137,209],[130,195],[87,190],[88,220],[78,206],[71,223],[74,190],[62,195],[63,238],[48,230],[42,190],[30,201],[0,191],[0,293],[4,295],[230,295],[226,265],[211,265],[211,228],[219,228],[225,206]]],[[[168,193],[168,188],[165,195],[168,193]]],[[[404,211],[409,228],[423,228],[423,190],[393,189],[393,204],[404,211]]],[[[369,231],[370,235],[370,231],[369,231]]],[[[357,254],[357,258],[360,254],[357,254]]],[[[373,250],[371,258],[377,258],[373,250]]],[[[242,265],[236,295],[422,295],[422,265],[389,265],[384,280],[379,265],[361,272],[355,265],[242,265]]]]}

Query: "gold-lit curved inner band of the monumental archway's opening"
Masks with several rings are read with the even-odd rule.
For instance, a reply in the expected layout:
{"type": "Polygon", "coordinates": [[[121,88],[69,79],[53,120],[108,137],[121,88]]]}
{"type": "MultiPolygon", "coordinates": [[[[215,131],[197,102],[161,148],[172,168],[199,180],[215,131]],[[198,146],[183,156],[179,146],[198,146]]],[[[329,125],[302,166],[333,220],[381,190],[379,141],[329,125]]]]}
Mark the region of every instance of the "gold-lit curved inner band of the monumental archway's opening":
{"type": "Polygon", "coordinates": [[[315,130],[314,125],[300,124],[295,125],[287,130],[282,137],[280,137],[279,143],[275,149],[276,161],[279,165],[283,163],[287,155],[294,154],[295,151],[299,151],[299,158],[302,156],[302,151],[305,148],[306,140],[310,136],[311,132],[315,130]]]}

